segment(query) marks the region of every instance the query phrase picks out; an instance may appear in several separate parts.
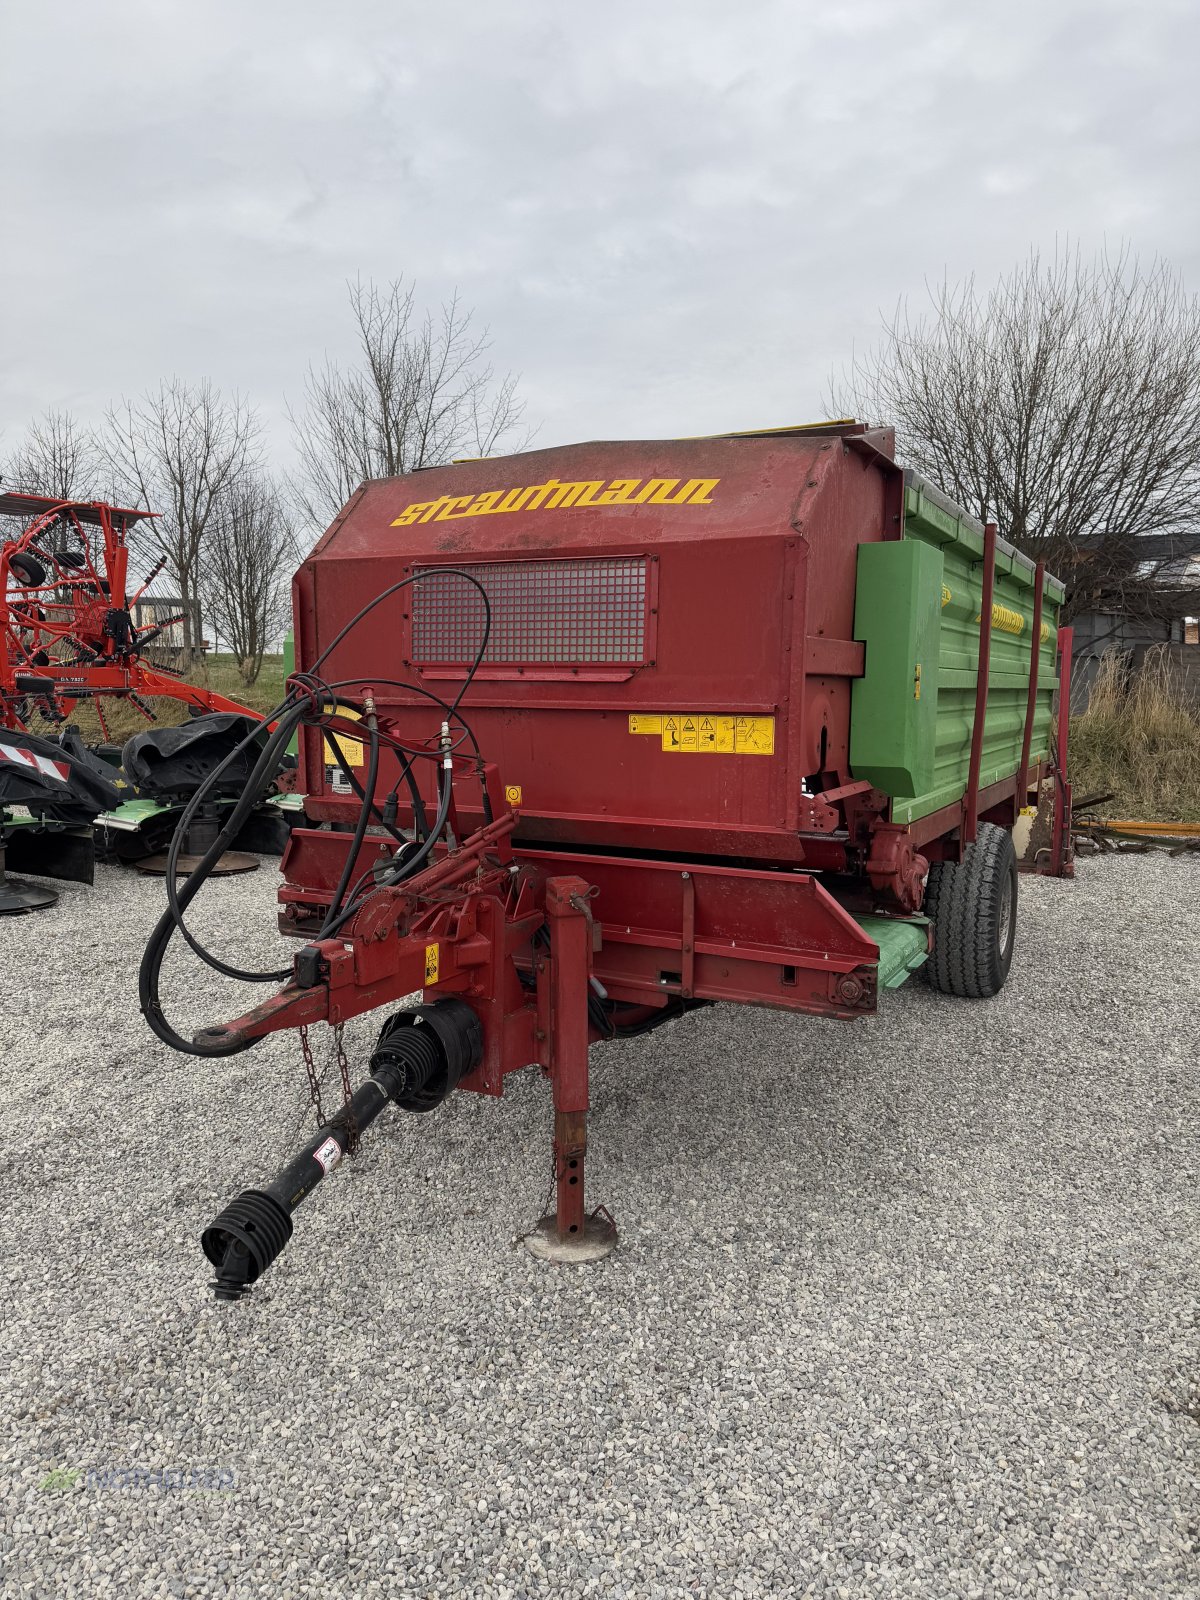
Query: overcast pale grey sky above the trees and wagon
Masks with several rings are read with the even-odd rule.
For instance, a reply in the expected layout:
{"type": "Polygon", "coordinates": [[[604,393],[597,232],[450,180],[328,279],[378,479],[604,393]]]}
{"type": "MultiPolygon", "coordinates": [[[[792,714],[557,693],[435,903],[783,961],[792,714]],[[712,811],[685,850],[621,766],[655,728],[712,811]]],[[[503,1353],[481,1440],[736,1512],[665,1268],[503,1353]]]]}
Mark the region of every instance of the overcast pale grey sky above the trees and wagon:
{"type": "Polygon", "coordinates": [[[344,282],[454,286],[538,443],[821,414],[928,278],[1200,286],[1197,0],[6,0],[0,451],[160,376],[283,397],[344,282]]]}

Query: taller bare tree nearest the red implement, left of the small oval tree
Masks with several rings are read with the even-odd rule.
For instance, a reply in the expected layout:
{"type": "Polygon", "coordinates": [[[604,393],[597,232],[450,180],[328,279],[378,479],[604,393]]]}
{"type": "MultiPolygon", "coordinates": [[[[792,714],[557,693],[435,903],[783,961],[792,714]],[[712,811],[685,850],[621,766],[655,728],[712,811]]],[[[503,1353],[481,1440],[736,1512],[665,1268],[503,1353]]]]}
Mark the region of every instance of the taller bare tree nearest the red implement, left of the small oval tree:
{"type": "Polygon", "coordinates": [[[208,381],[163,382],[142,400],[123,400],[106,419],[104,442],[125,494],[160,512],[138,525],[139,542],[165,557],[184,613],[184,659],[200,640],[194,608],[218,509],[258,462],[258,418],[238,395],[208,381]]]}

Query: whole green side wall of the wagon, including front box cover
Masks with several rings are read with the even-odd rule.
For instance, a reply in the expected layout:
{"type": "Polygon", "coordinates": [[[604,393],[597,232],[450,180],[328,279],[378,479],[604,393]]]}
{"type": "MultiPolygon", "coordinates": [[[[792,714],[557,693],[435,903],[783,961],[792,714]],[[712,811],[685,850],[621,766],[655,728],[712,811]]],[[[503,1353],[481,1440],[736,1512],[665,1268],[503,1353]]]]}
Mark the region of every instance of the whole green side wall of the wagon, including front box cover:
{"type": "MultiPolygon", "coordinates": [[[[1062,594],[1059,581],[1046,578],[1030,763],[1050,752],[1062,594]]],[[[853,686],[850,736],[854,778],[891,795],[896,822],[915,822],[966,792],[981,602],[978,528],[907,486],[904,538],[859,549],[854,638],[866,645],[866,675],[853,686]]],[[[1021,765],[1029,698],[1034,579],[1005,552],[997,552],[992,603],[981,787],[1021,765]]]]}

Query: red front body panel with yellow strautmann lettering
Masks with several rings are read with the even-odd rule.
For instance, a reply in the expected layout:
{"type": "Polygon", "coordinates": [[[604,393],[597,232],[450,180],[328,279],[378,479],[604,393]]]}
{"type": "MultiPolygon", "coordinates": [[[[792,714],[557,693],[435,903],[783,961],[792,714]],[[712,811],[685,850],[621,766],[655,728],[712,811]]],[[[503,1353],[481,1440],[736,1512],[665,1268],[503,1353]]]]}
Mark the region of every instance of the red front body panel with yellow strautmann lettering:
{"type": "MultiPolygon", "coordinates": [[[[838,437],[795,435],[584,445],[368,483],[298,576],[298,666],[414,568],[643,557],[645,664],[621,682],[597,678],[586,661],[507,666],[502,677],[485,664],[493,675],[470,686],[464,710],[482,747],[522,787],[518,838],[798,862],[805,779],[850,778],[850,683],[862,670],[851,638],[856,552],[883,538],[893,472],[838,437]],[[595,485],[595,496],[654,482],[707,491],[702,502],[584,506],[576,496],[482,515],[456,504],[530,485],[595,485]],[[413,504],[432,509],[395,526],[413,504]],[[653,738],[630,736],[637,712],[773,715],[774,754],[664,757],[653,738]]],[[[413,611],[413,590],[379,606],[339,646],[336,678],[374,685],[381,709],[418,739],[429,702],[381,678],[446,696],[453,669],[414,664],[413,611]]],[[[326,790],[314,738],[304,787],[315,818],[352,814],[352,800],[326,790]]]]}

